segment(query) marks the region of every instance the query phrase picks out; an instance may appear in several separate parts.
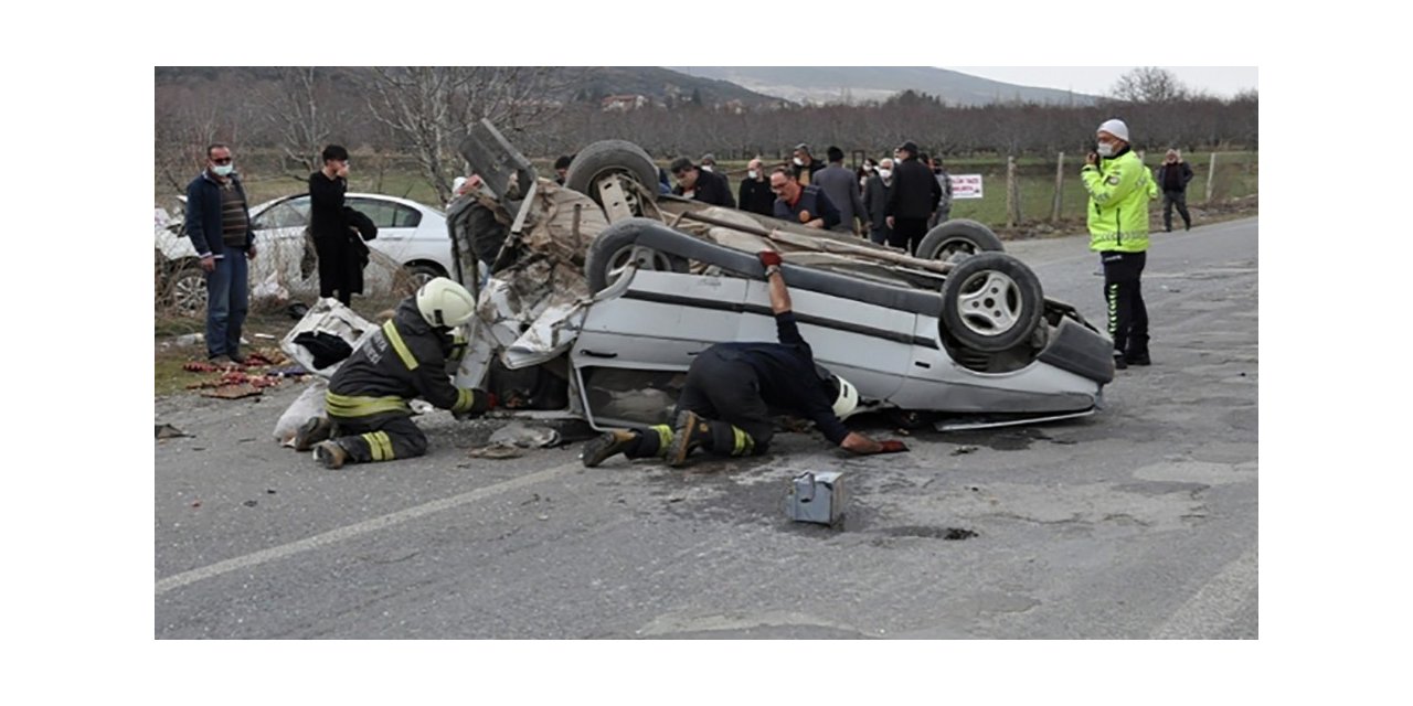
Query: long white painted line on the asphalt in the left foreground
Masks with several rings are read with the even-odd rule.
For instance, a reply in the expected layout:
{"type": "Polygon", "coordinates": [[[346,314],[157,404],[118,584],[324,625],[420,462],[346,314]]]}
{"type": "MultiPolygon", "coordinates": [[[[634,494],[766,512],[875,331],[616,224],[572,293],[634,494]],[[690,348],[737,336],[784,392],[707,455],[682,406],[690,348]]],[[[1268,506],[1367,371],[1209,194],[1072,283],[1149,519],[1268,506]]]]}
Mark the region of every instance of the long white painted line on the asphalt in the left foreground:
{"type": "Polygon", "coordinates": [[[487,486],[483,489],[471,490],[459,496],[452,496],[442,500],[434,500],[431,503],[424,503],[417,507],[410,507],[407,510],[398,510],[397,513],[386,514],[382,517],[374,517],[357,524],[348,527],[341,527],[338,530],[331,530],[324,534],[309,537],[307,539],[300,539],[297,542],[290,542],[280,546],[271,546],[268,549],[261,549],[254,554],[247,554],[244,556],[236,556],[235,559],[226,559],[223,562],[216,562],[209,566],[202,566],[199,569],[192,569],[189,572],[182,572],[175,576],[168,576],[157,582],[157,596],[167,593],[182,586],[196,583],[198,580],[211,579],[213,576],[220,576],[222,573],[230,573],[239,569],[247,569],[250,566],[259,566],[261,563],[273,562],[276,559],[284,559],[285,556],[295,555],[300,552],[307,552],[311,549],[318,549],[321,546],[328,546],[335,542],[342,542],[345,539],[352,539],[369,532],[376,532],[379,530],[386,530],[389,527],[406,522],[408,520],[417,520],[418,517],[425,517],[434,513],[441,513],[444,510],[451,510],[455,507],[465,505],[468,503],[475,503],[478,500],[485,500],[492,496],[499,496],[502,493],[509,493],[526,486],[533,486],[536,483],[550,480],[555,476],[562,476],[574,469],[582,467],[578,460],[571,463],[564,463],[561,466],[554,466],[528,476],[521,476],[504,483],[496,483],[495,486],[487,486]]]}

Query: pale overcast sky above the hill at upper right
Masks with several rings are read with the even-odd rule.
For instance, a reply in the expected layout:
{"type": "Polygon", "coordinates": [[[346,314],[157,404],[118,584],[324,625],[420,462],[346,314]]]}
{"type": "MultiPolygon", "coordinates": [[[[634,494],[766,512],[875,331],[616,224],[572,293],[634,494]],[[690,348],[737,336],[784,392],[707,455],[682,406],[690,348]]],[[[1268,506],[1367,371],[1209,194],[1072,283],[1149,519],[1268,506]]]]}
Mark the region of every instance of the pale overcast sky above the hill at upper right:
{"type": "MultiPolygon", "coordinates": [[[[1054,88],[1104,96],[1119,76],[1137,66],[940,66],[1020,86],[1054,88]]],[[[1238,90],[1259,88],[1256,66],[1161,66],[1187,88],[1231,97],[1238,90]]]]}

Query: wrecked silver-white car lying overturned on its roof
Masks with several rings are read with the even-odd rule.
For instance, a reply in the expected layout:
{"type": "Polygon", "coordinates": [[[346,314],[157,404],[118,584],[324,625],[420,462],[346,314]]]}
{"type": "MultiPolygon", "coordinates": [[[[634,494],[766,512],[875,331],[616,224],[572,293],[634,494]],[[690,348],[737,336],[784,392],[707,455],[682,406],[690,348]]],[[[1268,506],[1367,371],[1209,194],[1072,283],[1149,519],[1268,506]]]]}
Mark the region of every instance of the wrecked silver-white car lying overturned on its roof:
{"type": "Polygon", "coordinates": [[[591,193],[536,178],[489,124],[462,152],[485,188],[448,212],[454,277],[479,297],[456,383],[512,408],[595,428],[667,422],[695,354],[773,340],[755,256],[767,247],[815,359],[866,409],[1053,419],[1095,411],[1113,378],[1108,337],[1046,299],[979,223],[944,223],[928,257],[910,257],[657,195],[630,143],[579,152],[568,185],[591,193]]]}

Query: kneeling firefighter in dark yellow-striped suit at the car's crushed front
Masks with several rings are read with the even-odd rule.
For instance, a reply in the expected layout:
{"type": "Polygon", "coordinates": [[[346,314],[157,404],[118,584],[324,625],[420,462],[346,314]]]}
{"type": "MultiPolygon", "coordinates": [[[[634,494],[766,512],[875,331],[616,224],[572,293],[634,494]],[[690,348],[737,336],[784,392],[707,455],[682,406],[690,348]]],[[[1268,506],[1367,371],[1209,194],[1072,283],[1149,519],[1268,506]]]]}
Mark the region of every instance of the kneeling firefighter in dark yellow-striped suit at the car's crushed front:
{"type": "Polygon", "coordinates": [[[495,408],[483,390],[458,390],[447,371],[452,329],[475,315],[465,287],[438,277],[403,299],[397,312],[349,356],[329,380],[328,418],[311,418],[294,438],[325,467],[408,459],[427,453],[427,435],[413,424],[408,401],[421,397],[456,418],[495,408]]]}

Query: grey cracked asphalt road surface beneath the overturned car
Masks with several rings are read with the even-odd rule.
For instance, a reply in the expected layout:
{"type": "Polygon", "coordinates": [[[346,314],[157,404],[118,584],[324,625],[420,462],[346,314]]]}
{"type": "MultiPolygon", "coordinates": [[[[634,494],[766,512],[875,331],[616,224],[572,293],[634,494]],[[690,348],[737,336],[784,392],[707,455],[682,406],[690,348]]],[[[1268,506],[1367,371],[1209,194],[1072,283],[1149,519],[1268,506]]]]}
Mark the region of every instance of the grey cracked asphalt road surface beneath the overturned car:
{"type": "MultiPolygon", "coordinates": [[[[777,436],[670,470],[578,445],[466,450],[499,422],[420,418],[422,459],[324,470],[271,441],[297,387],[158,400],[158,638],[1256,638],[1256,219],[1154,234],[1153,366],[1096,415],[918,432],[846,457],[777,436]],[[842,530],[787,481],[844,470],[842,530]]],[[[1007,243],[1102,321],[1082,237],[1007,243]]],[[[887,429],[879,429],[887,432],[887,429]]]]}

